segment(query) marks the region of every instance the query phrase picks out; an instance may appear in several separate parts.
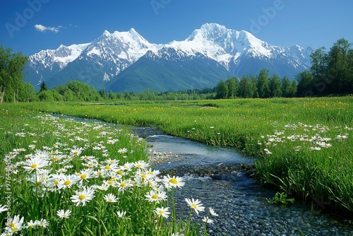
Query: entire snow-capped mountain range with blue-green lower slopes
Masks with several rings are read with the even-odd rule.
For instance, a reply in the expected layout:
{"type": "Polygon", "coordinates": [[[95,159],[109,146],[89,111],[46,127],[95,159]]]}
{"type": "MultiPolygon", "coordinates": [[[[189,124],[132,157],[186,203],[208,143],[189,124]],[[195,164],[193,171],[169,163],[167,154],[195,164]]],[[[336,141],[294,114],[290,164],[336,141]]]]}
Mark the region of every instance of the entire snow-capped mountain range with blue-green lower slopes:
{"type": "Polygon", "coordinates": [[[244,30],[206,23],[183,41],[153,44],[136,30],[109,33],[92,42],[42,50],[29,57],[25,81],[48,88],[81,81],[97,90],[160,92],[212,88],[221,79],[269,69],[294,79],[311,66],[311,47],[280,47],[244,30]]]}

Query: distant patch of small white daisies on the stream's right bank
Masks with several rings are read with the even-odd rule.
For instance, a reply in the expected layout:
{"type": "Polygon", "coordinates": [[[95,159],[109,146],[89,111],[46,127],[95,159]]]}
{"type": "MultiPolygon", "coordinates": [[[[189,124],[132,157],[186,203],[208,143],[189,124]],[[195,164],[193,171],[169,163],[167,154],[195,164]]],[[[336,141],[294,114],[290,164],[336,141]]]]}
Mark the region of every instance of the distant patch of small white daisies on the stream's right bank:
{"type": "Polygon", "coordinates": [[[303,123],[287,124],[282,131],[275,131],[274,134],[261,136],[262,140],[258,145],[263,146],[264,155],[272,155],[272,149],[276,146],[292,146],[292,150],[299,151],[321,151],[325,148],[331,148],[333,143],[343,141],[349,137],[348,132],[352,128],[333,127],[329,128],[321,124],[308,125],[303,123]],[[345,132],[342,134],[342,132],[345,132]],[[294,134],[293,134],[294,133],[294,134]],[[330,136],[328,136],[330,135],[330,136]]]}

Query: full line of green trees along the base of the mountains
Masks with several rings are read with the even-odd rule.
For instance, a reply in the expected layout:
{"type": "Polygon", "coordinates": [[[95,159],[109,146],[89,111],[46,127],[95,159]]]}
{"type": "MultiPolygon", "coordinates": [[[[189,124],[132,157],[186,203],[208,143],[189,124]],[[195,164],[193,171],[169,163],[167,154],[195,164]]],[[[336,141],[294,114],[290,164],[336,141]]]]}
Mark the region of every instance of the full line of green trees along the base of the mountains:
{"type": "Polygon", "coordinates": [[[42,82],[39,91],[30,83],[23,83],[23,68],[28,57],[11,53],[0,46],[0,103],[32,101],[102,101],[102,100],[203,100],[225,98],[293,98],[353,92],[353,49],[345,39],[311,54],[311,69],[299,73],[294,81],[270,76],[268,69],[258,75],[244,75],[221,80],[215,88],[200,88],[178,92],[128,93],[95,90],[88,84],[69,81],[48,89],[42,82]]]}

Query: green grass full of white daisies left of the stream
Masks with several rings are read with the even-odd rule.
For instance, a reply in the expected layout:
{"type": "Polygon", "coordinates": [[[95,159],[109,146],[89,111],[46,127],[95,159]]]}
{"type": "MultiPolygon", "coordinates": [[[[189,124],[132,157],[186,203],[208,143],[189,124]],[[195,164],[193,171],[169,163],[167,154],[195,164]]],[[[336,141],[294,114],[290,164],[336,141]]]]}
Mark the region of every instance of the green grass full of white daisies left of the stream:
{"type": "Polygon", "coordinates": [[[20,107],[0,107],[0,233],[199,235],[203,223],[178,219],[172,194],[178,189],[168,185],[175,177],[159,177],[150,168],[143,139],[124,127],[20,107]],[[104,185],[106,190],[101,190],[104,185]],[[84,189],[95,189],[92,199],[84,189]],[[107,194],[117,201],[104,199],[107,194]],[[148,194],[162,195],[150,202],[148,194]],[[75,199],[81,201],[76,204],[75,199]],[[169,218],[156,212],[162,207],[169,208],[169,218]],[[59,210],[70,210],[71,216],[61,218],[59,210]],[[33,227],[27,227],[31,223],[33,227]]]}

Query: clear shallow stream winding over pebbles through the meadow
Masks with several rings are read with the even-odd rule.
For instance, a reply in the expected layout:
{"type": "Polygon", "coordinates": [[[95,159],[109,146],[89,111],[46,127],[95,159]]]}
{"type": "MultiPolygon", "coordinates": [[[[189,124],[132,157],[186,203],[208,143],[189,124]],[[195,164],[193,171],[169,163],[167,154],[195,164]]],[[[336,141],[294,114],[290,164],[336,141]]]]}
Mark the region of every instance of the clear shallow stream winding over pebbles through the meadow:
{"type": "Polygon", "coordinates": [[[205,213],[192,213],[202,223],[208,207],[219,215],[207,225],[208,235],[353,235],[352,220],[326,215],[304,203],[285,206],[268,203],[275,191],[264,189],[249,177],[244,166],[255,162],[232,148],[206,146],[185,138],[167,136],[155,128],[133,128],[147,139],[151,152],[177,153],[155,169],[184,177],[175,191],[177,213],[187,216],[185,198],[199,199],[205,213]]]}

